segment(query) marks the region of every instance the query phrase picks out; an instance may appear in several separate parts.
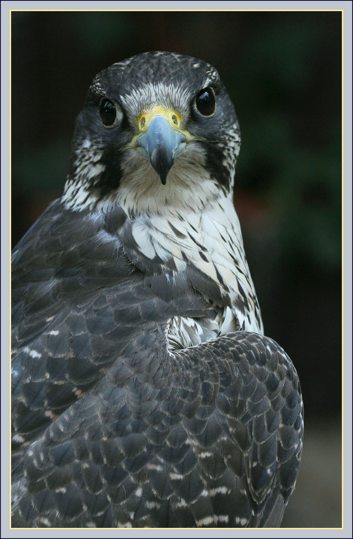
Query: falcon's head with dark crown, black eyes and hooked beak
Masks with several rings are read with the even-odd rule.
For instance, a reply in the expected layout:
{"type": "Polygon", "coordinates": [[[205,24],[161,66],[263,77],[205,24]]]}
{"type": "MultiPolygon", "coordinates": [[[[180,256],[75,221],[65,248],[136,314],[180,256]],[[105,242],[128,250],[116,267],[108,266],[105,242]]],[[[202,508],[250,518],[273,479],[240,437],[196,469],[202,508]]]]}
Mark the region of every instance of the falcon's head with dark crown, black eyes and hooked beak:
{"type": "Polygon", "coordinates": [[[239,147],[234,107],[211,65],[142,53],[94,78],[63,200],[76,209],[120,203],[135,215],[202,205],[231,193],[239,147]]]}

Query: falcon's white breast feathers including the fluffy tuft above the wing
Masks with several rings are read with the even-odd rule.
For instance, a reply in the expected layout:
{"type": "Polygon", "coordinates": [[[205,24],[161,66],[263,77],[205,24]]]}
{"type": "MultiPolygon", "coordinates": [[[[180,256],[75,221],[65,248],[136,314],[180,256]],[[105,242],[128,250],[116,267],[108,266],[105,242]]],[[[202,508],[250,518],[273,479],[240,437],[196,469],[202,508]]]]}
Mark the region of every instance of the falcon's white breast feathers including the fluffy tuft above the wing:
{"type": "Polygon", "coordinates": [[[132,222],[132,226],[134,239],[141,252],[145,255],[150,252],[149,258],[157,253],[163,261],[172,257],[178,272],[185,269],[186,256],[218,284],[224,296],[230,295],[233,304],[232,310],[225,309],[224,315],[218,317],[216,326],[213,324],[211,329],[204,322],[201,324],[183,317],[172,319],[168,330],[171,349],[187,348],[239,328],[262,333],[262,324],[259,326],[255,316],[257,306],[252,296],[256,295],[246,262],[239,220],[230,198],[219,198],[217,203],[209,204],[203,212],[183,213],[179,210],[177,217],[140,215],[132,222]],[[173,229],[178,230],[183,237],[178,237],[173,229]],[[216,268],[223,283],[218,278],[216,268]],[[240,294],[238,283],[247,295],[250,313],[244,314],[236,306],[240,294]]]}

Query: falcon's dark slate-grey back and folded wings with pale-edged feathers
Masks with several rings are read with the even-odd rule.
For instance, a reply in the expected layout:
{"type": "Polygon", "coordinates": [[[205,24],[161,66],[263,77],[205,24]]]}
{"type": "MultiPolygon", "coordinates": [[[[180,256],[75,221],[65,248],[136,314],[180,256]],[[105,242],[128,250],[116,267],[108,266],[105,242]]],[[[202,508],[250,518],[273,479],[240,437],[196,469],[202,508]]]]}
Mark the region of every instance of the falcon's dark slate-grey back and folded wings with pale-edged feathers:
{"type": "Polygon", "coordinates": [[[301,453],[295,369],[245,331],[169,351],[170,319],[212,314],[217,289],[192,267],[141,271],[122,213],[57,201],[13,252],[12,526],[277,526],[301,453]]]}

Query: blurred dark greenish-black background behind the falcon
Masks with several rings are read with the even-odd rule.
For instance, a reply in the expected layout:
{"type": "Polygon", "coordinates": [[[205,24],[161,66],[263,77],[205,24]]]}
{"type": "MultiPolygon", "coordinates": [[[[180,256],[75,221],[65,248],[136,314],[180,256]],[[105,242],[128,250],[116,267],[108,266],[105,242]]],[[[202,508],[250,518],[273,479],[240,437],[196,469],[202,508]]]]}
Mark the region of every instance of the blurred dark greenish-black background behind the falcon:
{"type": "Polygon", "coordinates": [[[234,205],[306,434],[282,526],[341,527],[341,12],[12,12],[12,245],[62,194],[96,73],[149,50],[214,65],[242,146],[234,205]]]}

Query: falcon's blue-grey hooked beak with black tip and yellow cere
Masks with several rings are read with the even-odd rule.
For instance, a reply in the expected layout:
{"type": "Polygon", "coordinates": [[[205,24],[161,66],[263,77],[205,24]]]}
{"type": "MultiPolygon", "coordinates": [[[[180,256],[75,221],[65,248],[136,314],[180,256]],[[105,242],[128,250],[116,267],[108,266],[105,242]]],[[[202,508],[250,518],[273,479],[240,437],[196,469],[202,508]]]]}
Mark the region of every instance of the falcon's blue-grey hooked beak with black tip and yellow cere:
{"type": "Polygon", "coordinates": [[[165,185],[174,160],[192,137],[180,128],[177,113],[162,107],[143,113],[139,118],[139,127],[140,134],[134,137],[131,146],[150,161],[165,185]]]}

